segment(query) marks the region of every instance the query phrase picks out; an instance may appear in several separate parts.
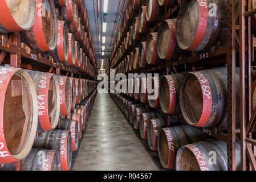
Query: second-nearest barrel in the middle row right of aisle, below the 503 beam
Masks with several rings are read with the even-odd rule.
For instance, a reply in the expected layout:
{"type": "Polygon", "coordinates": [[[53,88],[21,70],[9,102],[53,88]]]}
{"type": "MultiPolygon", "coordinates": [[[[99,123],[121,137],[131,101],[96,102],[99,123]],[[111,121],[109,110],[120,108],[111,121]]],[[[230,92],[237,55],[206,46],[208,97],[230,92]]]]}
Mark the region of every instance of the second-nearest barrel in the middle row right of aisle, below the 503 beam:
{"type": "Polygon", "coordinates": [[[184,73],[165,75],[160,81],[159,102],[165,114],[180,113],[180,84],[184,78],[184,73]]]}

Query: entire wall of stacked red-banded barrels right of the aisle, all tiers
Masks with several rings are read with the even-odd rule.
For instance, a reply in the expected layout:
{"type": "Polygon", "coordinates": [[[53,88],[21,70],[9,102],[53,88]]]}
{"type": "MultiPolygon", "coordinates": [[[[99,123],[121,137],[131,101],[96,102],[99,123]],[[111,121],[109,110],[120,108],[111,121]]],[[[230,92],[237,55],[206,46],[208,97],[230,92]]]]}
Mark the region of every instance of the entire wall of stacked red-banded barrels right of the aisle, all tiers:
{"type": "MultiPolygon", "coordinates": [[[[131,0],[111,53],[110,68],[115,74],[145,73],[151,65],[226,46],[226,20],[226,0],[131,0]]],[[[227,68],[170,69],[173,72],[151,71],[159,73],[152,74],[154,77],[145,73],[115,81],[116,92],[121,94],[112,94],[113,100],[140,130],[141,138],[148,140],[149,148],[158,151],[162,167],[227,170],[226,143],[198,133],[209,133],[212,127],[224,133],[227,130],[227,68]],[[217,154],[217,162],[210,162],[213,154],[217,154]]],[[[235,86],[238,128],[238,70],[235,86]]],[[[236,146],[239,165],[239,143],[236,146]]]]}

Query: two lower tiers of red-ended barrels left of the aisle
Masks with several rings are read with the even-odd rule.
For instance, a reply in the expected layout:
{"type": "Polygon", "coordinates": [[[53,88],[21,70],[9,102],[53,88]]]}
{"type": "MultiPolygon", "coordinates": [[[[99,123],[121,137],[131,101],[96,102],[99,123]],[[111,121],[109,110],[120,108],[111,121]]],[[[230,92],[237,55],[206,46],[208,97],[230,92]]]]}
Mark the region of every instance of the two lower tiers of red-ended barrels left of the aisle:
{"type": "Polygon", "coordinates": [[[22,170],[70,169],[96,82],[14,67],[0,72],[0,163],[20,161],[22,170]]]}

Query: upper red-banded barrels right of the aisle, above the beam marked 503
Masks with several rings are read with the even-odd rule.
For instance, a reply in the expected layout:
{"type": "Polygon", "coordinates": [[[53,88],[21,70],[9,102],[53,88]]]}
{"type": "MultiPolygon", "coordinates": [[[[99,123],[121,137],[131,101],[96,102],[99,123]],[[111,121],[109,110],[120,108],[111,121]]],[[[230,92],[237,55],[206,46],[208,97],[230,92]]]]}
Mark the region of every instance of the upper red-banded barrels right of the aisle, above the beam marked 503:
{"type": "Polygon", "coordinates": [[[129,1],[110,68],[116,73],[137,72],[166,60],[178,61],[182,50],[189,56],[192,51],[209,52],[212,46],[225,46],[227,1],[214,2],[214,10],[209,0],[129,1]],[[168,18],[168,8],[171,12],[178,9],[178,13],[168,18]]]}

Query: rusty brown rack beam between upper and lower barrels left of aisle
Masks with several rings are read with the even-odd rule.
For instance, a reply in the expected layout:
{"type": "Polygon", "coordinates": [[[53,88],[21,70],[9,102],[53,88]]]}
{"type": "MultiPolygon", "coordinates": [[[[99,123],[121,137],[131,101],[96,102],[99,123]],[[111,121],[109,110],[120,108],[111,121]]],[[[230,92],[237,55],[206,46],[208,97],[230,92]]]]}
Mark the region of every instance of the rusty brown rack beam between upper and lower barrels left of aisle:
{"type": "MultiPolygon", "coordinates": [[[[93,77],[79,71],[79,69],[75,67],[66,65],[62,61],[55,61],[51,57],[46,59],[46,57],[43,56],[43,53],[41,54],[28,51],[23,48],[21,44],[19,32],[13,32],[9,36],[8,34],[0,35],[0,64],[2,64],[7,53],[10,53],[11,67],[32,69],[31,65],[43,65],[42,68],[44,68],[44,72],[54,72],[56,75],[60,75],[62,73],[62,75],[66,76],[70,75],[71,77],[94,80],[93,77]]],[[[95,67],[94,69],[96,72],[95,67]]]]}

